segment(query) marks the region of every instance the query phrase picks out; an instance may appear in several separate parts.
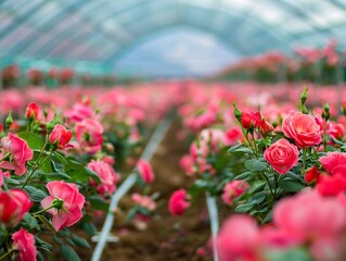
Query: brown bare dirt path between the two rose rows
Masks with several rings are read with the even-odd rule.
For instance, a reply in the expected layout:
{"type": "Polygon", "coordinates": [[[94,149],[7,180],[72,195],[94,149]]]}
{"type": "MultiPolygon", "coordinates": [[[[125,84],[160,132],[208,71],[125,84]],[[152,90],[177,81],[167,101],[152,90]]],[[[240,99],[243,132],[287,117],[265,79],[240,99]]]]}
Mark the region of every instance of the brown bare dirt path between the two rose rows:
{"type": "MultiPolygon", "coordinates": [[[[209,237],[204,199],[201,206],[189,209],[182,217],[171,216],[167,210],[170,194],[187,185],[188,177],[179,169],[179,160],[187,148],[176,139],[179,124],[175,123],[156,150],[151,163],[156,174],[153,191],[161,192],[158,213],[153,216],[144,231],[132,224],[115,221],[113,233],[119,243],[110,243],[104,249],[103,261],[197,261],[210,260],[195,254],[209,237]]],[[[127,203],[125,198],[121,203],[127,203]]]]}

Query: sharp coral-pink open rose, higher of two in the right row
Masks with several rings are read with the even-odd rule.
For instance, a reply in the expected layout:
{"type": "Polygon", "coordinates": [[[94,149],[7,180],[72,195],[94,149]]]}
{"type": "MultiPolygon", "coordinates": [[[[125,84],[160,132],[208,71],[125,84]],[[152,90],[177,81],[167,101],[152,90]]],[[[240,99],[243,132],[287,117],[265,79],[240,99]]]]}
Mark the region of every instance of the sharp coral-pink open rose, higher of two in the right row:
{"type": "Polygon", "coordinates": [[[299,148],[318,146],[322,141],[321,129],[315,119],[298,111],[290,111],[283,120],[282,129],[299,148]]]}

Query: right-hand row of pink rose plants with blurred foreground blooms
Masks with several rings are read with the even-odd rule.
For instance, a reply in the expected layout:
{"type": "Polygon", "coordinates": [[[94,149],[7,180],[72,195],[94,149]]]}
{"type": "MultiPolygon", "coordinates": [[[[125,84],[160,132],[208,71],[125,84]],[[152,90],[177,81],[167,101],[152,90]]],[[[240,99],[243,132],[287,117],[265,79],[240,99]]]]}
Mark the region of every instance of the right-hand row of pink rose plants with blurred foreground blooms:
{"type": "Polygon", "coordinates": [[[179,134],[192,140],[180,163],[194,183],[171,195],[169,211],[183,214],[201,192],[219,198],[232,212],[214,249],[222,261],[344,260],[346,108],[318,105],[336,89],[322,98],[310,86],[295,107],[287,92],[254,104],[244,88],[247,101],[236,89],[194,88],[179,134]]]}

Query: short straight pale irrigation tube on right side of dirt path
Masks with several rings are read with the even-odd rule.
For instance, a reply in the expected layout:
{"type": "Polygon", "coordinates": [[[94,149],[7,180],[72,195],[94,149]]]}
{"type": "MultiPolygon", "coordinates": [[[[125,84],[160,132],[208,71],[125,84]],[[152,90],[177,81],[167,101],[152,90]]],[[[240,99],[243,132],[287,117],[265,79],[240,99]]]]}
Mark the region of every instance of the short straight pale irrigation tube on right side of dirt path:
{"type": "Polygon", "coordinates": [[[214,261],[219,261],[218,247],[217,247],[217,233],[219,231],[219,216],[216,204],[216,198],[207,194],[207,207],[210,219],[212,240],[213,240],[213,256],[214,261]]]}

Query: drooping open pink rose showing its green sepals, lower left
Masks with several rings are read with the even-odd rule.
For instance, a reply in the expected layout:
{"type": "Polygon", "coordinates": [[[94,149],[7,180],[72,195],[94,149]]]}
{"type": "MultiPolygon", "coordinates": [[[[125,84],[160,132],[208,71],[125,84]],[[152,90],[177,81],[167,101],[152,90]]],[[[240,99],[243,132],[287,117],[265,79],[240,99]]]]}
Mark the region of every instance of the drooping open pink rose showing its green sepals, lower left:
{"type": "Polygon", "coordinates": [[[46,187],[50,196],[41,201],[42,208],[61,202],[61,206],[47,210],[53,215],[52,224],[56,231],[72,226],[82,217],[81,209],[86,200],[76,184],[53,181],[46,187]]]}

